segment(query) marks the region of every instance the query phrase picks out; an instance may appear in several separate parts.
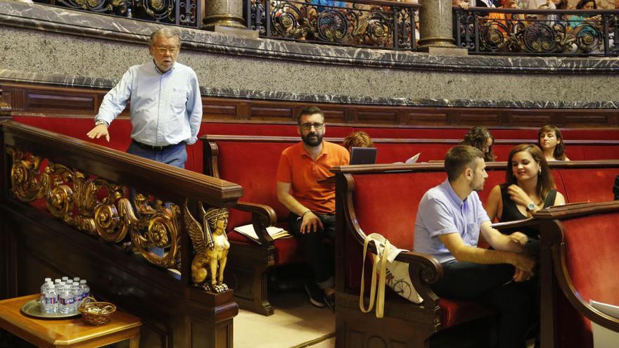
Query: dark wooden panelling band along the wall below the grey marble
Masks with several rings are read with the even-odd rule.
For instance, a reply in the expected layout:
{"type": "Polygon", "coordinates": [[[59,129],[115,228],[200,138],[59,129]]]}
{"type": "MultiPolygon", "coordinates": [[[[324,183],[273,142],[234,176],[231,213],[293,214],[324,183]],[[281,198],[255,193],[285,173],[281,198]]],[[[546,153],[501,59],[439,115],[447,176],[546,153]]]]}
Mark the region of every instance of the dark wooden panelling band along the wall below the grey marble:
{"type": "MultiPolygon", "coordinates": [[[[79,89],[41,84],[0,84],[13,112],[92,117],[107,90],[79,89]]],[[[411,126],[502,126],[617,127],[615,109],[459,108],[391,105],[256,101],[237,98],[203,97],[204,117],[209,121],[295,122],[300,108],[314,105],[331,124],[411,126]]],[[[123,112],[128,115],[128,112],[123,112]]]]}

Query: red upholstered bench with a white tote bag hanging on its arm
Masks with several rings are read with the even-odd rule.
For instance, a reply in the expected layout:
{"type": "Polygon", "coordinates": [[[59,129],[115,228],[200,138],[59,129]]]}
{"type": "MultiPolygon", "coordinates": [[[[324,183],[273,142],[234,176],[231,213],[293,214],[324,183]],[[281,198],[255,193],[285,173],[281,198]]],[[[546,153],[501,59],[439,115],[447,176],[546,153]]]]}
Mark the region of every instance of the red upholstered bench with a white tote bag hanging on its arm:
{"type": "MultiPolygon", "coordinates": [[[[494,184],[504,180],[504,166],[504,163],[489,166],[488,193],[494,184]]],[[[400,254],[399,259],[409,262],[415,270],[413,283],[423,302],[413,304],[388,292],[384,318],[378,319],[374,313],[362,314],[359,290],[365,236],[378,232],[393,245],[412,250],[419,201],[447,175],[442,163],[344,166],[334,168],[333,172],[338,202],[336,334],[341,344],[338,347],[369,347],[377,337],[382,342],[399,342],[402,347],[427,347],[430,336],[440,330],[494,314],[480,304],[437,297],[428,284],[442,276],[442,267],[434,257],[415,252],[400,254]]],[[[369,262],[369,257],[365,262],[369,262]]],[[[371,266],[366,265],[368,269],[371,266]]],[[[367,274],[366,279],[370,276],[367,274]]]]}

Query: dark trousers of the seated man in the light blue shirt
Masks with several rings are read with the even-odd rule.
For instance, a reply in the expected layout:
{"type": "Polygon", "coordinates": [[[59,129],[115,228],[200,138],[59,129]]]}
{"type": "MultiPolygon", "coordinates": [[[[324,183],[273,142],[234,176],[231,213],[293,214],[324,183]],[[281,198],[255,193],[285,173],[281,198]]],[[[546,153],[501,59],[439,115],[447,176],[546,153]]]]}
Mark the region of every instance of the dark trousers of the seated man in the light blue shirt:
{"type": "MultiPolygon", "coordinates": [[[[499,347],[523,348],[532,320],[534,281],[511,281],[514,268],[509,264],[442,264],[443,276],[430,285],[440,297],[475,301],[499,312],[499,347]]],[[[538,318],[539,320],[539,318],[538,318]]]]}

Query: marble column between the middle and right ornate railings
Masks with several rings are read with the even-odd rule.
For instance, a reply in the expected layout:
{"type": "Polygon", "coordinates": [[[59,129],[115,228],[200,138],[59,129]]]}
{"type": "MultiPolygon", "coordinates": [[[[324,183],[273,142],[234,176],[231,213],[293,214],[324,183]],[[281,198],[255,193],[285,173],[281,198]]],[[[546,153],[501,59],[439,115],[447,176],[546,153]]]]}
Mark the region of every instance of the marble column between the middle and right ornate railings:
{"type": "Polygon", "coordinates": [[[423,0],[419,13],[419,48],[456,48],[452,32],[452,0],[423,0]]]}

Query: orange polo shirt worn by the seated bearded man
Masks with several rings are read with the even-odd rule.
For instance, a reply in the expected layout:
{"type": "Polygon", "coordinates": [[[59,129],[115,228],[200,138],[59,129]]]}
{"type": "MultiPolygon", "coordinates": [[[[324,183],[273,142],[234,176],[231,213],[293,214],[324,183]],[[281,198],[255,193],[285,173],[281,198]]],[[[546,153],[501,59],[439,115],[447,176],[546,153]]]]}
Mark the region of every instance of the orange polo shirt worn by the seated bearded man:
{"type": "Polygon", "coordinates": [[[349,161],[345,148],[328,141],[322,142],[320,155],[312,160],[300,142],[282,151],[277,181],[291,183],[291,195],[312,212],[335,214],[336,184],[317,181],[332,176],[331,167],[347,165],[349,161]]]}

